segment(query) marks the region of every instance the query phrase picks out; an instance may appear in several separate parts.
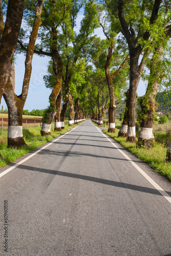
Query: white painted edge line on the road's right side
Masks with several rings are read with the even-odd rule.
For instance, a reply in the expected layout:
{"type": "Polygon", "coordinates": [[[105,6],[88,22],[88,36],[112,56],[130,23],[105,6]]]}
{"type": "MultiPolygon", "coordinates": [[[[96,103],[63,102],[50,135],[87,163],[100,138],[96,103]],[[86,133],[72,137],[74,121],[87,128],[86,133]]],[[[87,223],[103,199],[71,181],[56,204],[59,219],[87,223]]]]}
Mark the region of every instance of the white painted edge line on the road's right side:
{"type": "MultiPolygon", "coordinates": [[[[94,125],[95,126],[95,125],[94,125]]],[[[97,126],[95,126],[97,128],[97,126]]],[[[97,128],[101,133],[102,131],[97,128]]],[[[160,187],[149,175],[147,175],[130,157],[128,157],[122,150],[119,150],[118,146],[115,145],[107,136],[106,134],[102,133],[104,137],[107,138],[110,143],[117,148],[117,150],[138,170],[138,172],[143,175],[143,177],[148,180],[158,191],[159,193],[171,204],[171,197],[167,194],[167,192],[160,187]]]]}

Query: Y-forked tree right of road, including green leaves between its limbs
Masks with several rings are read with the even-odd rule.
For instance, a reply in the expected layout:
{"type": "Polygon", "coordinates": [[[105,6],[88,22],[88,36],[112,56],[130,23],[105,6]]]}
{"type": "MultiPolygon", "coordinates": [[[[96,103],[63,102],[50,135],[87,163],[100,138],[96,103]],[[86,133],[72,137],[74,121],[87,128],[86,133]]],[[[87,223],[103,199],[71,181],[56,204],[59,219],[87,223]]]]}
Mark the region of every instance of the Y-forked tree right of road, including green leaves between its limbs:
{"type": "Polygon", "coordinates": [[[124,0],[118,0],[118,17],[121,25],[121,32],[127,40],[130,53],[130,88],[128,95],[128,133],[127,140],[135,142],[135,103],[136,103],[136,91],[138,82],[141,76],[139,72],[139,56],[143,51],[144,45],[140,43],[146,42],[150,37],[148,29],[144,30],[143,23],[149,24],[149,27],[153,26],[156,29],[155,23],[158,18],[158,12],[162,0],[155,0],[154,4],[148,1],[140,1],[138,5],[135,1],[132,1],[127,6],[124,4],[124,0]],[[130,13],[131,10],[131,13],[130,13]],[[150,15],[148,15],[150,14],[150,15]],[[129,20],[129,22],[127,21],[129,20]],[[138,41],[139,40],[139,41],[138,41]],[[138,43],[139,42],[139,43],[138,43]],[[137,44],[138,43],[138,44],[137,44]]]}

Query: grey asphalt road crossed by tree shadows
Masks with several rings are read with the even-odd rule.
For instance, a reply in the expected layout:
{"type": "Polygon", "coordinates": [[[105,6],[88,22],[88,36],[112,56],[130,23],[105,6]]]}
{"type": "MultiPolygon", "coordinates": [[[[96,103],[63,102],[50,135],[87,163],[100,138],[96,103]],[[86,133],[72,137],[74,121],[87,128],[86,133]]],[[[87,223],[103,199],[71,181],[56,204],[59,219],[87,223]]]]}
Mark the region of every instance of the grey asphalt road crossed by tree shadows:
{"type": "Polygon", "coordinates": [[[90,120],[26,157],[0,169],[0,255],[171,255],[170,183],[90,120]]]}

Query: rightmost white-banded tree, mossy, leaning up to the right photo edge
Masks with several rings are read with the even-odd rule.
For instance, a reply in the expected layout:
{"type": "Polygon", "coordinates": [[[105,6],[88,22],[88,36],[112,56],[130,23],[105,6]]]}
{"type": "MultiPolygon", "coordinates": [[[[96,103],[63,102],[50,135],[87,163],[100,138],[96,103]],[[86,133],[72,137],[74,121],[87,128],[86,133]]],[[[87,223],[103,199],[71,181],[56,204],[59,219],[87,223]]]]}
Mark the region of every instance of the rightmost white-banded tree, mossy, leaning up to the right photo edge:
{"type": "Polygon", "coordinates": [[[138,135],[138,145],[148,148],[154,142],[153,124],[155,111],[157,110],[156,95],[159,84],[165,77],[162,55],[164,48],[167,49],[169,44],[168,39],[171,36],[170,26],[166,27],[165,36],[165,38],[162,38],[162,41],[159,40],[156,42],[153,57],[148,61],[148,67],[150,69],[150,75],[146,77],[148,78],[148,87],[146,88],[145,95],[139,100],[140,111],[138,113],[141,131],[138,135]]]}

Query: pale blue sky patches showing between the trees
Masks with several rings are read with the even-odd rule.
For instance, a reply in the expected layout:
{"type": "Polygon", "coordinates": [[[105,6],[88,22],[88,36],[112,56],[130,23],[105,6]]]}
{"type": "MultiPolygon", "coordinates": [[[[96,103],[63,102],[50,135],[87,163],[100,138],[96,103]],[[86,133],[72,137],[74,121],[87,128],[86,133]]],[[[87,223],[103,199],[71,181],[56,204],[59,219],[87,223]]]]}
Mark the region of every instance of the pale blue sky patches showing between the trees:
{"type": "MultiPolygon", "coordinates": [[[[78,15],[76,32],[78,32],[80,29],[80,20],[82,18],[82,14],[78,15]]],[[[102,28],[95,29],[94,34],[96,34],[98,37],[105,38],[102,28]]],[[[43,76],[47,73],[47,65],[49,60],[51,60],[50,57],[40,57],[38,55],[33,56],[29,92],[23,109],[28,109],[31,111],[33,109],[41,110],[47,108],[48,97],[51,94],[51,90],[45,88],[43,76]]],[[[22,90],[22,81],[25,74],[25,56],[23,54],[17,55],[15,63],[15,93],[19,95],[22,90]]],[[[138,96],[144,95],[144,82],[140,81],[137,93],[138,96]]],[[[4,98],[2,98],[0,108],[2,108],[2,105],[4,106],[4,109],[7,108],[4,98]]]]}

